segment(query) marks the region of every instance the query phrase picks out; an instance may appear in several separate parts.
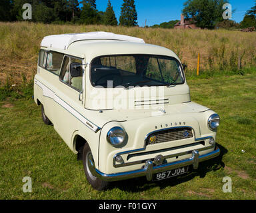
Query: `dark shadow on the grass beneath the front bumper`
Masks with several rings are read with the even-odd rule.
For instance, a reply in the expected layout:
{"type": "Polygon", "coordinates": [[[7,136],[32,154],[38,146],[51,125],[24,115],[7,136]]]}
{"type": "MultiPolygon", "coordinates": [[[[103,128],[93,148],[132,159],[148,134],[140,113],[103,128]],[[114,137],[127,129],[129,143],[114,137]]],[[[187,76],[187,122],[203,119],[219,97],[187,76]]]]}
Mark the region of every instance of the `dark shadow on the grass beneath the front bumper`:
{"type": "Polygon", "coordinates": [[[221,154],[217,156],[217,158],[200,162],[199,168],[197,170],[193,170],[192,166],[189,166],[189,172],[187,174],[184,174],[183,176],[175,176],[173,178],[168,178],[157,182],[147,182],[145,176],[141,178],[122,180],[119,182],[111,182],[109,190],[113,188],[119,188],[120,190],[127,192],[143,192],[155,186],[158,186],[161,189],[168,186],[176,186],[178,184],[181,184],[182,182],[192,180],[196,176],[204,178],[207,172],[216,171],[225,167],[222,158],[228,152],[228,150],[220,144],[217,144],[217,146],[219,146],[221,150],[221,154]]]}

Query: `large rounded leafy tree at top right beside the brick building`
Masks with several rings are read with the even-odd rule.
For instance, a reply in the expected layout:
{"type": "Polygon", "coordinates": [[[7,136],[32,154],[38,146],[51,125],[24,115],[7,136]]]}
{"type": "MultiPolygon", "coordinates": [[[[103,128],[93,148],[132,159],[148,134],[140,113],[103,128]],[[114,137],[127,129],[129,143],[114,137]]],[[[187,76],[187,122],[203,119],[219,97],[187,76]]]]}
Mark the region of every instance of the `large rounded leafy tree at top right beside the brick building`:
{"type": "Polygon", "coordinates": [[[223,21],[225,0],[188,0],[184,3],[183,15],[191,18],[197,27],[212,29],[223,21]]]}

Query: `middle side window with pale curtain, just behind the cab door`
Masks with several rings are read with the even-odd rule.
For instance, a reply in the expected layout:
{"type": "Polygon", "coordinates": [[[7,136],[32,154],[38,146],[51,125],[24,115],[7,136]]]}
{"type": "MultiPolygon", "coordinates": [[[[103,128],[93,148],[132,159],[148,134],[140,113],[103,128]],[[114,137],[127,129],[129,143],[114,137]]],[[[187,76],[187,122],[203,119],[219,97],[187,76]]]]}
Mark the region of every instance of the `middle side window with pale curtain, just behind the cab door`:
{"type": "Polygon", "coordinates": [[[63,56],[63,53],[49,51],[47,54],[45,69],[47,69],[47,71],[50,71],[51,73],[54,73],[55,75],[59,75],[61,71],[63,56]]]}

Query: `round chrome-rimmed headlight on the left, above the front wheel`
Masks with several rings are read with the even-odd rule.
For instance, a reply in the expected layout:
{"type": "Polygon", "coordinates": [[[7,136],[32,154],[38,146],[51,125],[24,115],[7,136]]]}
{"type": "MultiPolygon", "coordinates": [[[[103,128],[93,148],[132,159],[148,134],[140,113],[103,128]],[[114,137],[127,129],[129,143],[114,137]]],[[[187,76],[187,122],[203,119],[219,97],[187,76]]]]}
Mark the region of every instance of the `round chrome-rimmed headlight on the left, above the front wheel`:
{"type": "Polygon", "coordinates": [[[115,126],[107,132],[107,141],[114,147],[120,147],[126,142],[127,134],[123,128],[115,126]]]}

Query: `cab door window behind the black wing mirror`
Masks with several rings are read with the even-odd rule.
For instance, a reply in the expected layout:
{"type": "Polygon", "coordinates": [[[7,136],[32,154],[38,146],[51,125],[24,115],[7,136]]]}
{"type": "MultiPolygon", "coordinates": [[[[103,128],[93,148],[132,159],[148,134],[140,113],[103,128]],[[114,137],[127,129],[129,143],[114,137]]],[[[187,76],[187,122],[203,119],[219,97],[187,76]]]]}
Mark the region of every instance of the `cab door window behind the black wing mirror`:
{"type": "Polygon", "coordinates": [[[63,66],[61,69],[61,75],[59,76],[59,79],[61,79],[61,81],[63,81],[63,83],[73,87],[77,91],[82,91],[82,89],[83,89],[83,69],[81,66],[77,66],[78,65],[77,63],[82,65],[81,59],[75,59],[73,57],[66,56],[63,61],[63,66]],[[76,63],[74,73],[72,73],[70,71],[70,65],[72,65],[72,63],[73,63],[73,65],[74,65],[74,63],[76,63]]]}

